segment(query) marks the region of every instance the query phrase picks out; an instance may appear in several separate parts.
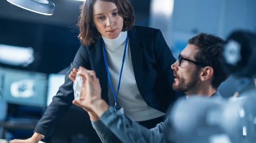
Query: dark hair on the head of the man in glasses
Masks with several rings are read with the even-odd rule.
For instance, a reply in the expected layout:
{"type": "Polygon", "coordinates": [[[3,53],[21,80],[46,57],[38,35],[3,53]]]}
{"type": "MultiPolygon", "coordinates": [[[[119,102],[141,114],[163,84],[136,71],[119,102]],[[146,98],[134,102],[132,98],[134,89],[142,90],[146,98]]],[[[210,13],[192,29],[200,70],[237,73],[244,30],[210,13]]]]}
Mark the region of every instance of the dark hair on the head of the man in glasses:
{"type": "Polygon", "coordinates": [[[220,37],[204,33],[198,34],[197,36],[189,39],[189,44],[195,45],[199,49],[198,53],[196,53],[194,57],[195,60],[212,67],[212,87],[216,89],[229,76],[221,66],[224,43],[225,41],[220,37]]]}

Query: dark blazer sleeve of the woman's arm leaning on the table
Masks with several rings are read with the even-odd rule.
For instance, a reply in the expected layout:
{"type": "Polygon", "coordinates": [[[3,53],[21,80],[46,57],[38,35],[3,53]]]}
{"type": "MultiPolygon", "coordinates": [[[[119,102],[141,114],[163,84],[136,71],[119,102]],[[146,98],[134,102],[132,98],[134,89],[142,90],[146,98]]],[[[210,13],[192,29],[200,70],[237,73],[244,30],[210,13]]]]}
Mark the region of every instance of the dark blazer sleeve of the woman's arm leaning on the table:
{"type": "Polygon", "coordinates": [[[34,132],[40,133],[44,136],[49,135],[49,132],[54,129],[56,124],[70,109],[72,101],[74,100],[74,93],[73,81],[69,79],[68,75],[73,68],[79,68],[79,66],[91,69],[89,56],[83,45],[80,46],[73,62],[70,65],[70,69],[66,73],[64,84],[61,85],[57,94],[52,98],[52,103],[38,122],[34,132]]]}

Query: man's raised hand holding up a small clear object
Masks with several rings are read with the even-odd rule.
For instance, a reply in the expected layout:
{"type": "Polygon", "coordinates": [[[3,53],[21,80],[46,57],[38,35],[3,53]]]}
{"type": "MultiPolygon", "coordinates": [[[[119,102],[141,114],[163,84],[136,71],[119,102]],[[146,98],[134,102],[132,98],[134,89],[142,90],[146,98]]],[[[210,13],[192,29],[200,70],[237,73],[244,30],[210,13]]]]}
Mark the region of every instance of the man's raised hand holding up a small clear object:
{"type": "MultiPolygon", "coordinates": [[[[87,70],[83,67],[79,67],[79,70],[82,71],[79,76],[82,76],[84,86],[81,92],[81,99],[74,100],[72,103],[82,107],[87,112],[92,112],[91,107],[93,103],[102,99],[99,79],[96,77],[96,73],[93,70],[87,70]]],[[[74,76],[74,73],[79,70],[73,70],[70,75],[74,76]]]]}

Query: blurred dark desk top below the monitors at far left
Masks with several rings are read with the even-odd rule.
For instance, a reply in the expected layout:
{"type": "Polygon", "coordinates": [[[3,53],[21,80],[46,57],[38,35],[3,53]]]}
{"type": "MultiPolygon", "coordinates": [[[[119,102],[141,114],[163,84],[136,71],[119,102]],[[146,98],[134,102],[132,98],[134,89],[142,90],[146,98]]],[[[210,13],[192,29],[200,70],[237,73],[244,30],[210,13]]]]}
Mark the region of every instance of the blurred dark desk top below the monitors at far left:
{"type": "Polygon", "coordinates": [[[13,123],[13,122],[9,122],[9,121],[3,121],[3,122],[0,122],[0,126],[2,126],[4,128],[8,128],[8,129],[28,129],[28,130],[34,130],[36,124],[13,123]]]}

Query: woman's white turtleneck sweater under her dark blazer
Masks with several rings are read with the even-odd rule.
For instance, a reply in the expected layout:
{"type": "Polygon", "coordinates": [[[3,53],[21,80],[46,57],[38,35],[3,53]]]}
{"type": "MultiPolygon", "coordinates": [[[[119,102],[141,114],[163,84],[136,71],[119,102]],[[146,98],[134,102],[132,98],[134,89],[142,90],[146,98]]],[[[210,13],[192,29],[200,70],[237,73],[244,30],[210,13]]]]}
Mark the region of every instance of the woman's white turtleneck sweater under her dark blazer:
{"type": "MultiPolygon", "coordinates": [[[[121,32],[116,39],[108,39],[102,35],[105,43],[111,84],[113,86],[115,95],[117,92],[120,70],[122,67],[126,36],[127,31],[121,32]]],[[[109,82],[108,98],[109,104],[114,106],[115,101],[109,82]]],[[[144,101],[143,97],[140,95],[134,77],[129,40],[126,48],[125,62],[122,70],[122,78],[117,98],[117,109],[120,106],[122,107],[124,114],[131,116],[135,121],[146,121],[165,115],[165,113],[149,107],[144,101]]]]}

